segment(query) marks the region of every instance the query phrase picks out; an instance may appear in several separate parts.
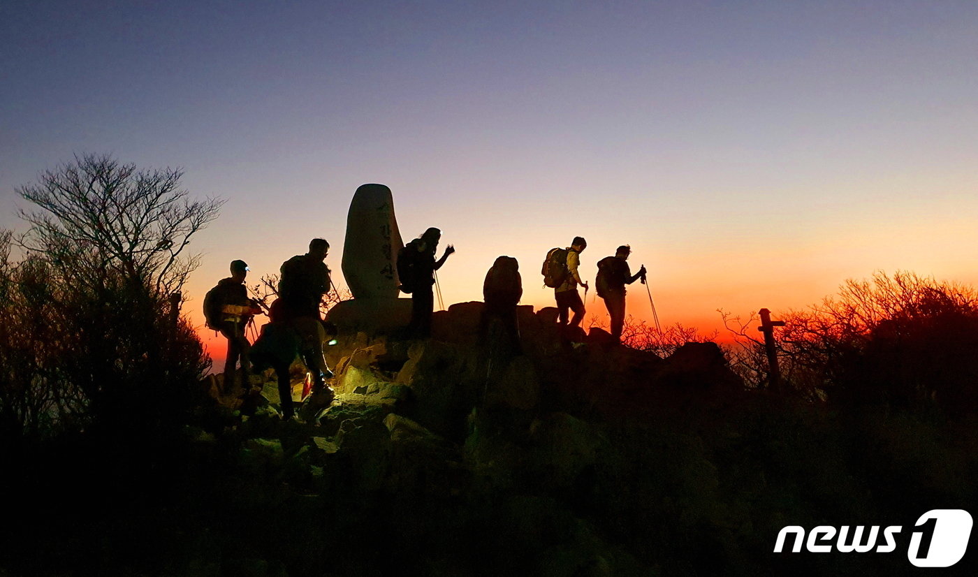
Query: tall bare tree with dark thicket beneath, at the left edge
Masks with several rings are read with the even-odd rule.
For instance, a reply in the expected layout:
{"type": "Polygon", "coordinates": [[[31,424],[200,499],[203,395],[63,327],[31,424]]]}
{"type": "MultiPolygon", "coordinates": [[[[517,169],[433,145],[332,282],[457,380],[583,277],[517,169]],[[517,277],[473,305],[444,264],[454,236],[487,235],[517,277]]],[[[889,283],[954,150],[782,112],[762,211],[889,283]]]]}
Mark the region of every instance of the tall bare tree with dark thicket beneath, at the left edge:
{"type": "Polygon", "coordinates": [[[222,200],[190,200],[178,169],[81,155],[18,193],[35,206],[10,257],[0,235],[0,421],[104,431],[163,425],[209,366],[169,297],[199,257],[191,238],[222,200]],[[138,408],[138,410],[133,410],[138,408]]]}

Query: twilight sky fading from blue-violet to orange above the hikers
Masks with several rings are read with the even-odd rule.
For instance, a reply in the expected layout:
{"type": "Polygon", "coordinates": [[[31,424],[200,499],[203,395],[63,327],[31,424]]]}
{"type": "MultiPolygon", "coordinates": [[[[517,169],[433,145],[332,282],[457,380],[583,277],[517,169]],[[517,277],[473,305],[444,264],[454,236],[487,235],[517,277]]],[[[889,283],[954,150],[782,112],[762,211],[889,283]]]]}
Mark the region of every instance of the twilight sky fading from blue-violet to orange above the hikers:
{"type": "Polygon", "coordinates": [[[540,263],[581,235],[586,277],[631,244],[663,324],[709,331],[879,269],[978,284],[978,3],[5,0],[0,227],[81,152],[227,200],[201,324],[235,258],[257,281],[324,237],[339,280],[378,182],[405,242],[458,248],[446,304],[500,254],[552,303],[540,263]]]}

